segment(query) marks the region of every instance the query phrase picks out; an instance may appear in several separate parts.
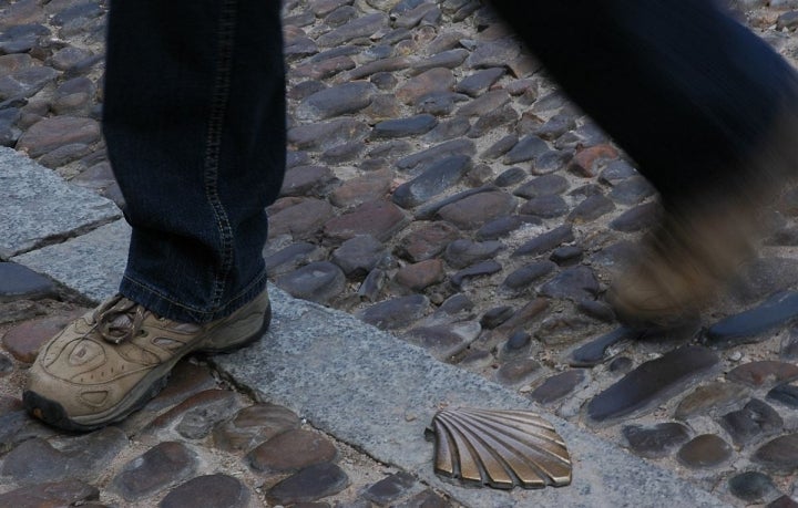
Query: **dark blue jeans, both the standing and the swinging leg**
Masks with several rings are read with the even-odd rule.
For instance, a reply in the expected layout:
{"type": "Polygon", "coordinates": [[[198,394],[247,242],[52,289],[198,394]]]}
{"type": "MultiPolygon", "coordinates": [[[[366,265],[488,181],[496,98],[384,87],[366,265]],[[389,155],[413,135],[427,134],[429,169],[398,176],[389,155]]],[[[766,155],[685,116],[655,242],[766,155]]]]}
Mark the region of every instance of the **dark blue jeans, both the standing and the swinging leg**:
{"type": "MultiPolygon", "coordinates": [[[[113,0],[104,132],[133,227],[122,294],[222,318],[266,282],[285,165],[277,0],[113,0]]],[[[667,204],[745,188],[790,68],[708,0],[493,0],[667,204]],[[720,190],[719,190],[720,189],[720,190]]]]}

